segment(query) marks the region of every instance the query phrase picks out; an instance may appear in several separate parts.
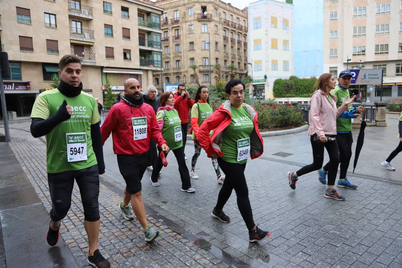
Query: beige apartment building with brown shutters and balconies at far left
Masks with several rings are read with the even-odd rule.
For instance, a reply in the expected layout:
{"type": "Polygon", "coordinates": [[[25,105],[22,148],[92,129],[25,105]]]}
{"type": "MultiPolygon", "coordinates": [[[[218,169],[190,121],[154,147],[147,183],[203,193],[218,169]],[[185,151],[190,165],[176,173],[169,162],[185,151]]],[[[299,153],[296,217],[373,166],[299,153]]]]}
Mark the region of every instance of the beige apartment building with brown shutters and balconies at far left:
{"type": "Polygon", "coordinates": [[[66,54],[81,58],[84,91],[100,102],[107,78],[115,91],[131,77],[142,87],[152,84],[153,71],[162,67],[162,11],[139,0],[3,1],[0,43],[11,70],[4,80],[7,109],[29,115],[66,54]]]}

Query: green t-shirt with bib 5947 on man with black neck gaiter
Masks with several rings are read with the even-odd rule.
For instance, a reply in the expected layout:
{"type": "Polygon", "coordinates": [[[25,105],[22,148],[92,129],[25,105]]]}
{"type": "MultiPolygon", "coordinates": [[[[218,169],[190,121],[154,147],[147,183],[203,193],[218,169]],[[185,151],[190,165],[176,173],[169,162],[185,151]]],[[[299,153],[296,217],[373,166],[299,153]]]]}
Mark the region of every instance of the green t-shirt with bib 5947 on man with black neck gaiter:
{"type": "Polygon", "coordinates": [[[71,106],[72,115],[46,135],[48,173],[80,170],[97,164],[92,150],[91,125],[98,123],[100,117],[96,101],[88,93],[82,91],[76,97],[67,97],[58,89],[44,91],[35,99],[31,118],[49,118],[64,100],[71,106]]]}

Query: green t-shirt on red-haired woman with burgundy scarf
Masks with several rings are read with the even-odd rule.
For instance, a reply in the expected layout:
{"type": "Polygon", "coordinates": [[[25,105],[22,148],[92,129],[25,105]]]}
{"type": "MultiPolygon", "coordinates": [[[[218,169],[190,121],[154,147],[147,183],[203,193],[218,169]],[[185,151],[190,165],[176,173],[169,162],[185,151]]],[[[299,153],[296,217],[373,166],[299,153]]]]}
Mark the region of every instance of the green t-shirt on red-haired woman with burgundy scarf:
{"type": "Polygon", "coordinates": [[[183,134],[181,132],[181,120],[178,112],[173,109],[160,110],[156,113],[156,120],[163,119],[163,128],[161,130],[163,138],[168,143],[169,149],[174,150],[183,146],[183,134]],[[163,117],[164,114],[164,117],[163,117]]]}

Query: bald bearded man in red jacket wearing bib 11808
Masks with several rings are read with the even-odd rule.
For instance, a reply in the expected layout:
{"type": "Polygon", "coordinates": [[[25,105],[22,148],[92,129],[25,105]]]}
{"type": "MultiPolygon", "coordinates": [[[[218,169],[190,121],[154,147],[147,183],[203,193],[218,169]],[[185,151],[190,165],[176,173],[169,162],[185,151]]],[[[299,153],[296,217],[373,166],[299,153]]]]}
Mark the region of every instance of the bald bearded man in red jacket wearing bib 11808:
{"type": "Polygon", "coordinates": [[[148,166],[146,154],[150,149],[150,138],[165,153],[168,153],[169,147],[160,132],[154,109],[143,102],[137,79],[129,78],[124,82],[124,94],[120,102],[110,108],[100,132],[103,144],[112,133],[113,151],[126,182],[123,202],[119,205],[120,211],[126,220],[131,221],[134,218],[129,206],[131,200],[134,214],[144,228],[145,241],[151,242],[160,236],[160,231],[155,231],[148,225],[142,202],[141,179],[148,166]]]}

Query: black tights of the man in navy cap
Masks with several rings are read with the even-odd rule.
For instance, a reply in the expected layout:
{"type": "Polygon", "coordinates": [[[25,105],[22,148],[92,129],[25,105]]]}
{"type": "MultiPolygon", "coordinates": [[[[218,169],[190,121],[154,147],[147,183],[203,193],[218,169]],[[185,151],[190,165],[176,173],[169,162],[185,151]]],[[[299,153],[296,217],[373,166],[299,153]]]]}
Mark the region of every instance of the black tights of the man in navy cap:
{"type": "MultiPolygon", "coordinates": [[[[336,135],[336,142],[339,148],[339,159],[340,159],[340,173],[339,179],[345,179],[346,173],[348,172],[349,162],[352,157],[352,143],[353,135],[352,132],[348,133],[338,133],[336,135]]],[[[329,162],[324,166],[324,170],[328,171],[329,162]]]]}

